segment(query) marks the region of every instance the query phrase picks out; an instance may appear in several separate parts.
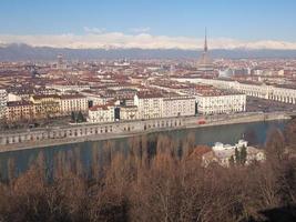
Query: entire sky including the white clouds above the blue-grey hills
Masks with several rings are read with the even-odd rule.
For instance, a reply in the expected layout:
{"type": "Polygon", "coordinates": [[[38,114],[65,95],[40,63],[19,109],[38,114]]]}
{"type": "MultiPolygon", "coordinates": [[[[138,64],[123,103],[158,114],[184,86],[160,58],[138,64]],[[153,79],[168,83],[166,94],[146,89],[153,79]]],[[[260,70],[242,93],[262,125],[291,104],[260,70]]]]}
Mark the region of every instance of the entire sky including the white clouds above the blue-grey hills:
{"type": "Polygon", "coordinates": [[[295,0],[1,0],[0,43],[296,49],[295,0]],[[212,44],[211,44],[212,43],[212,44]]]}

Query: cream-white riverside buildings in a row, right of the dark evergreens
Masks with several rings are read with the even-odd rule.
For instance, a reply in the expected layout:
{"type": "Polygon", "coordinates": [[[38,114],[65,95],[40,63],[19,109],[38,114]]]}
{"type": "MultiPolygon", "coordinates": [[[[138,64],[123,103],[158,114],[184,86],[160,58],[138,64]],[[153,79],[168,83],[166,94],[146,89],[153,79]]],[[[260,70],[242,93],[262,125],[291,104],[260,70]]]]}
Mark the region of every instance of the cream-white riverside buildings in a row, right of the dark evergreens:
{"type": "Polygon", "coordinates": [[[137,92],[133,105],[106,103],[89,110],[89,122],[112,122],[121,120],[149,120],[195,114],[220,114],[244,112],[246,95],[221,90],[204,91],[196,94],[164,95],[153,92],[137,92]]]}

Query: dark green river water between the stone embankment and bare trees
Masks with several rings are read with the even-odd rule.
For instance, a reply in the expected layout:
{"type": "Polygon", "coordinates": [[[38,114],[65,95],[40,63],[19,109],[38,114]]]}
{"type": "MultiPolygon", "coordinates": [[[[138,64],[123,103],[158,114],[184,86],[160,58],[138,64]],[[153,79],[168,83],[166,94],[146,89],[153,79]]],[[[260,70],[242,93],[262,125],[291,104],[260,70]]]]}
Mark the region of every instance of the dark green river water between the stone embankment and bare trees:
{"type": "MultiPolygon", "coordinates": [[[[151,133],[147,135],[149,140],[155,139],[160,134],[164,134],[173,139],[174,142],[182,143],[188,134],[194,134],[195,144],[212,145],[215,142],[223,142],[233,144],[239,139],[249,141],[249,144],[264,144],[268,130],[273,128],[284,129],[287,121],[269,121],[269,122],[254,122],[232,125],[206,127],[200,129],[175,130],[160,133],[151,133]]],[[[64,160],[73,160],[76,157],[81,160],[83,168],[89,171],[92,164],[92,153],[95,151],[99,157],[99,162],[103,160],[103,145],[106,141],[89,141],[74,144],[63,144],[47,148],[38,148],[31,150],[21,150],[13,152],[0,153],[0,173],[1,178],[6,179],[8,175],[8,160],[13,160],[14,173],[20,174],[28,169],[28,167],[37,159],[40,152],[43,153],[49,173],[52,173],[54,161],[57,157],[64,160]]],[[[113,151],[124,152],[129,151],[129,139],[112,140],[113,151]]],[[[153,145],[153,144],[152,144],[153,145]]]]}

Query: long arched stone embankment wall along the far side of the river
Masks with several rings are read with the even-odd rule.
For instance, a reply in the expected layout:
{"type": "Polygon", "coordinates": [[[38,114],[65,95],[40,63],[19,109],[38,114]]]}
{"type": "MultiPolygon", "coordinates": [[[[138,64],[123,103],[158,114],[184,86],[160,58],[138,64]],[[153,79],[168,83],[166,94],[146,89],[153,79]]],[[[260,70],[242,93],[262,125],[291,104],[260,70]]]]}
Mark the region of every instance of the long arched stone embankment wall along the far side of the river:
{"type": "Polygon", "coordinates": [[[105,124],[76,124],[60,128],[31,129],[0,134],[0,152],[89,140],[105,140],[174,129],[235,124],[288,119],[284,113],[236,113],[207,117],[182,117],[105,124]]]}

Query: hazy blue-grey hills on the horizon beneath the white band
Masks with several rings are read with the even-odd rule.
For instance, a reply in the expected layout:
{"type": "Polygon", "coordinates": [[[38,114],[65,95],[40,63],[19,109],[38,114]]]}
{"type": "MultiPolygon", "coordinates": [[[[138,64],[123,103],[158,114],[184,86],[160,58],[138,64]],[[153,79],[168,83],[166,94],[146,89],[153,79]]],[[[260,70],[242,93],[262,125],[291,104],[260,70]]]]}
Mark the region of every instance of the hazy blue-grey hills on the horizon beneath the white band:
{"type": "MultiPolygon", "coordinates": [[[[95,59],[194,59],[201,54],[196,50],[181,49],[60,49],[49,47],[30,47],[28,44],[0,46],[0,61],[53,61],[61,53],[68,60],[95,59]]],[[[213,58],[296,58],[296,50],[248,50],[234,49],[210,50],[213,58]]]]}

